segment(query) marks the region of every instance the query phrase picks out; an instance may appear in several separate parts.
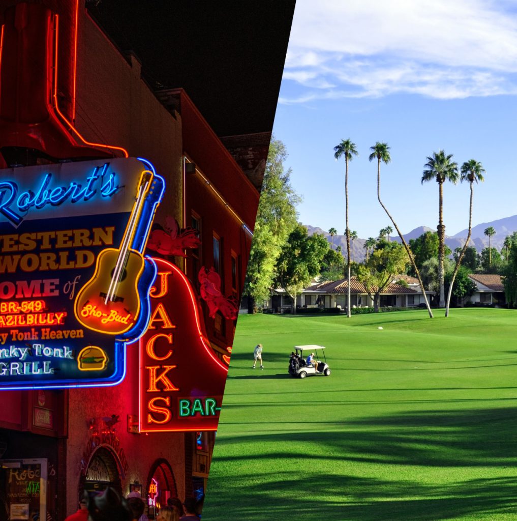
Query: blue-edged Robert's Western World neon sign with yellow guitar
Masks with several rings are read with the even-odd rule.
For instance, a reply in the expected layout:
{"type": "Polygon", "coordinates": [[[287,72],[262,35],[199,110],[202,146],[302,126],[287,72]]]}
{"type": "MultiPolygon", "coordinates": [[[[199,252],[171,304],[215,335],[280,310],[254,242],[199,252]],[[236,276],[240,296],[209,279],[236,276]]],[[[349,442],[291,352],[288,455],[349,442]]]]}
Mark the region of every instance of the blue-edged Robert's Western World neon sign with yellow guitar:
{"type": "Polygon", "coordinates": [[[164,188],[135,158],[0,170],[0,390],[123,379],[151,316],[143,251],[164,188]]]}

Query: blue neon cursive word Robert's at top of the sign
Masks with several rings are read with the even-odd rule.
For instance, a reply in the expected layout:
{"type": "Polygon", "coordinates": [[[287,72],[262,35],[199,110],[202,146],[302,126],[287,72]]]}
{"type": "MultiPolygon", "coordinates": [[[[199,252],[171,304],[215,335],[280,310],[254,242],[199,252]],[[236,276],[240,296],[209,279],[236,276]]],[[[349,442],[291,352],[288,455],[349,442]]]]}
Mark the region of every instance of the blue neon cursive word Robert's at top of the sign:
{"type": "Polygon", "coordinates": [[[40,186],[33,192],[26,190],[18,196],[19,187],[14,181],[0,182],[0,213],[11,224],[18,226],[23,221],[23,214],[31,208],[42,209],[47,205],[59,206],[69,200],[71,203],[89,201],[99,191],[102,197],[111,197],[117,192],[119,186],[116,182],[115,172],[111,172],[105,180],[109,163],[102,167],[95,167],[93,173],[86,178],[84,183],[70,182],[68,187],[52,188],[52,173],[43,177],[40,186]],[[97,185],[100,184],[100,187],[97,185]]]}

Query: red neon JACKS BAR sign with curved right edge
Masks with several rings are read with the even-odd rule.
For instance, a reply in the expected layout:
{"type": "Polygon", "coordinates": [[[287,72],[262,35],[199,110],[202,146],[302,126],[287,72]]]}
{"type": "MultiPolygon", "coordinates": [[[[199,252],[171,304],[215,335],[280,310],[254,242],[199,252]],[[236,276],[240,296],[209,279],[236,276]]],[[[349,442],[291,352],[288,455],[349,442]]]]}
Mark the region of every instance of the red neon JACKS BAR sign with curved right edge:
{"type": "Polygon", "coordinates": [[[140,339],[141,432],[216,430],[227,366],[214,354],[183,272],[154,259],[147,331],[140,339]]]}

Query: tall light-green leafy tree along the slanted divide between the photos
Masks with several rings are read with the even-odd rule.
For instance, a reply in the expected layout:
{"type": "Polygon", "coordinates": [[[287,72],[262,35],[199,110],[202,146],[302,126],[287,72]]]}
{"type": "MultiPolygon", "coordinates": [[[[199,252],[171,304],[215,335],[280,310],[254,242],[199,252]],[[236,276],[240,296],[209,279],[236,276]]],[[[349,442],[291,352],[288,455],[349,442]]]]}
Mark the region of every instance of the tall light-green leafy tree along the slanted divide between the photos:
{"type": "Polygon", "coordinates": [[[300,197],[291,186],[291,169],[284,168],[286,158],[282,141],[272,138],[243,290],[250,312],[255,311],[255,302],[269,299],[276,259],[297,226],[300,197]]]}

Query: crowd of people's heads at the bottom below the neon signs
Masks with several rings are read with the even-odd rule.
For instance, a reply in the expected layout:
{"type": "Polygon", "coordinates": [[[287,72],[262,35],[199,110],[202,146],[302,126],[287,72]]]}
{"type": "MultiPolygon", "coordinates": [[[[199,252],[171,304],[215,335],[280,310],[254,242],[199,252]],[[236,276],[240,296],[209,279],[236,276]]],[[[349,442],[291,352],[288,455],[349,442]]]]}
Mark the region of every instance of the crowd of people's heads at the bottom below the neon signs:
{"type": "MultiPolygon", "coordinates": [[[[196,501],[186,498],[182,503],[178,498],[169,498],[167,506],[161,506],[156,513],[156,521],[199,521],[203,499],[196,501]]],[[[131,492],[127,498],[108,487],[103,492],[84,492],[79,501],[79,510],[65,521],[149,521],[145,515],[145,503],[138,492],[131,492]]]]}

